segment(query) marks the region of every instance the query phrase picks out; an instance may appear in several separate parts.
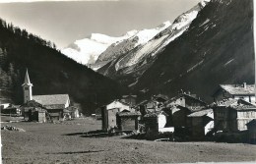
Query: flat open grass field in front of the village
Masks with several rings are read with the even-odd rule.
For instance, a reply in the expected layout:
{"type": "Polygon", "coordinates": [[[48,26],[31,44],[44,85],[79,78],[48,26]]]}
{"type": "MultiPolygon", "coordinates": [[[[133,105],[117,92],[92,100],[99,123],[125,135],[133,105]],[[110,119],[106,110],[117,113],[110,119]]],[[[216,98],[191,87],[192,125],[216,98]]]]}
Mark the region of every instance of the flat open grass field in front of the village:
{"type": "Polygon", "coordinates": [[[100,129],[87,118],[61,124],[5,123],[26,132],[1,131],[3,163],[181,163],[256,161],[256,145],[158,142],[123,137],[85,137],[100,129]]]}

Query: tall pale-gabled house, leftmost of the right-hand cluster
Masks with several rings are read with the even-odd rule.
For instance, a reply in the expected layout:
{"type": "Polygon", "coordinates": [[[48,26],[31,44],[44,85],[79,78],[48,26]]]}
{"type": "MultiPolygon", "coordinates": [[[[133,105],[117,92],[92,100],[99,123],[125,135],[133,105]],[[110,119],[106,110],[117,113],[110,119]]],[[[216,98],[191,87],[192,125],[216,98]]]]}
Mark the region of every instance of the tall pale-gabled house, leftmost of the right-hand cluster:
{"type": "Polygon", "coordinates": [[[104,105],[100,108],[101,110],[101,122],[102,130],[109,131],[117,128],[116,114],[124,110],[131,111],[130,105],[120,100],[114,100],[113,102],[104,105]]]}

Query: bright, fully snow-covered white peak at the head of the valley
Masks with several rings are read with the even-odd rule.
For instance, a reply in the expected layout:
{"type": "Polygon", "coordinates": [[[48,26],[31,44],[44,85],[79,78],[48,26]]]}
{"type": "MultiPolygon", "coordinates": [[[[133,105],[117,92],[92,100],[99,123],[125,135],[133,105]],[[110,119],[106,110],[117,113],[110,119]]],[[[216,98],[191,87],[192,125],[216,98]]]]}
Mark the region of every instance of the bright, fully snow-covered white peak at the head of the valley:
{"type": "Polygon", "coordinates": [[[137,33],[137,30],[128,31],[120,37],[111,37],[105,34],[93,33],[89,38],[76,40],[68,47],[61,50],[63,54],[84,65],[95,64],[98,56],[111,44],[129,38],[137,33]]]}

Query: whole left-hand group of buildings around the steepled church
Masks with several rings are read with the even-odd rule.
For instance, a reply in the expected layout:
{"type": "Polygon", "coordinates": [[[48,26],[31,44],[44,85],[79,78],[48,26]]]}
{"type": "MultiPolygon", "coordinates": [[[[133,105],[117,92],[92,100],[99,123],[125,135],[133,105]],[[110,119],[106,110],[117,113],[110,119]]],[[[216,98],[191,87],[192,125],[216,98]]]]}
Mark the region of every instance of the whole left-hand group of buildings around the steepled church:
{"type": "Polygon", "coordinates": [[[2,104],[1,113],[24,116],[26,121],[45,123],[78,118],[78,108],[70,105],[68,94],[32,95],[32,82],[28,70],[22,85],[23,105],[2,104]]]}

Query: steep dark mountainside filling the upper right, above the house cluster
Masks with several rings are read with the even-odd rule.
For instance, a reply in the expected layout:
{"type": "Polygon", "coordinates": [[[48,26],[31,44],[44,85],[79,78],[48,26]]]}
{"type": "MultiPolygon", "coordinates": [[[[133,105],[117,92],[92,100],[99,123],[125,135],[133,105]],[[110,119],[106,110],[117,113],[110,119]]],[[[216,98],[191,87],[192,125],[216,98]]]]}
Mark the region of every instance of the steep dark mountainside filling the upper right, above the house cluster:
{"type": "Polygon", "coordinates": [[[252,0],[212,0],[139,79],[142,95],[190,90],[211,102],[220,83],[254,83],[252,0]]]}

